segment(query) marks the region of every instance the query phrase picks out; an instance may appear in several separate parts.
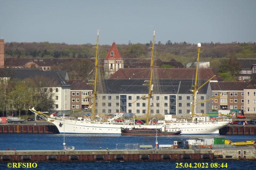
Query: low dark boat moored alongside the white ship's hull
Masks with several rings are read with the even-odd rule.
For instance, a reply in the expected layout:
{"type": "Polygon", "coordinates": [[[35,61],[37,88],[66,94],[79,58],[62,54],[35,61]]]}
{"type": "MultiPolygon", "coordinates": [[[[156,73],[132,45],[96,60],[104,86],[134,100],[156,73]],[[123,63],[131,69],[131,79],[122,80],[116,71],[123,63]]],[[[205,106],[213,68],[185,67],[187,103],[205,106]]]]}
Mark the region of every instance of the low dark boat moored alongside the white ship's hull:
{"type": "Polygon", "coordinates": [[[168,129],[168,131],[162,131],[162,129],[148,129],[148,128],[122,128],[122,135],[180,135],[181,131],[179,128],[168,129]]]}

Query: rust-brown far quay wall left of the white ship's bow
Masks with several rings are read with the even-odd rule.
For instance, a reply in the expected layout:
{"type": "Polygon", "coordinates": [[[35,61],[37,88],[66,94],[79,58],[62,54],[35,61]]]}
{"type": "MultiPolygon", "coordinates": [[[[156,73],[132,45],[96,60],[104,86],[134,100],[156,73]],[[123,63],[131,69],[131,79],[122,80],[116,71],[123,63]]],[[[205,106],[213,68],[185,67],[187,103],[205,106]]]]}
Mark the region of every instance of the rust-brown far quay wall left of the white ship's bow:
{"type": "Polygon", "coordinates": [[[0,133],[59,133],[55,125],[0,125],[0,133]]]}

